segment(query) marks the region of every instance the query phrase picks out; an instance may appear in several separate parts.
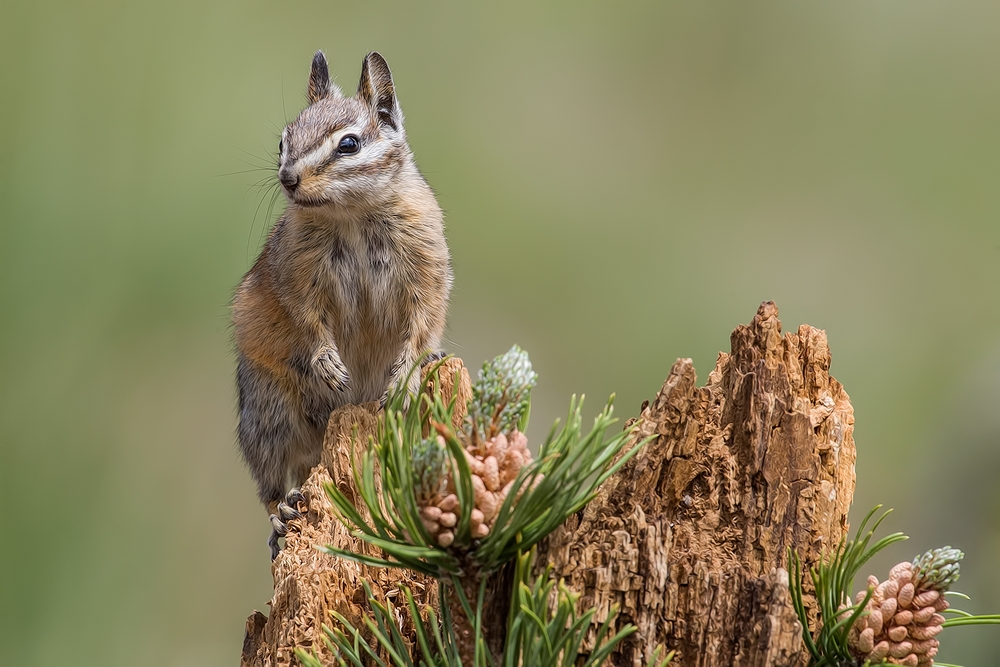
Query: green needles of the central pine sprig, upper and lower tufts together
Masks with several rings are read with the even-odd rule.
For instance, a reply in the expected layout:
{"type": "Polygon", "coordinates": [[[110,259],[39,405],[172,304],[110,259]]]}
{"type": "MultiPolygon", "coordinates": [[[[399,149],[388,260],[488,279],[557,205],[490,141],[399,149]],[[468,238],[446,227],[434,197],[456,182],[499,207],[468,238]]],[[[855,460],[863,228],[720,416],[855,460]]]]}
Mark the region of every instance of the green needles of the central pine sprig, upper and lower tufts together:
{"type": "MultiPolygon", "coordinates": [[[[507,667],[598,667],[615,646],[635,632],[635,628],[626,625],[612,635],[610,627],[617,613],[613,610],[598,629],[593,651],[582,661],[578,660],[596,611],[578,614],[579,595],[561,582],[551,581],[549,571],[531,580],[531,549],[582,509],[596,495],[598,487],[647,441],[624,451],[632,429],[606,439],[608,429],[616,422],[612,416],[614,396],[597,416],[590,432],[584,434],[583,401],[573,397],[565,426],[560,429],[557,422],[542,445],[538,459],[520,471],[490,534],[473,540],[470,524],[474,490],[465,456],[466,444],[469,438],[475,442],[476,438],[493,437],[514,428],[523,430],[536,375],[527,354],[517,346],[485,364],[473,388],[468,420],[456,431],[452,427],[455,399],[447,404],[443,400],[440,368],[441,363],[438,363],[430,370],[429,395],[409,396],[402,388],[389,393],[375,438],[354,461],[357,502],[368,510],[371,519],[366,520],[355,501],[336,486],[326,486],[338,518],[355,537],[379,547],[385,557],[332,546],[317,549],[365,565],[404,567],[437,578],[440,599],[445,599],[448,593],[455,595],[477,636],[474,664],[466,667],[497,667],[492,665],[492,657],[482,637],[486,575],[517,559],[503,664],[507,667]],[[431,434],[429,438],[427,433],[431,434]],[[454,480],[460,514],[453,545],[442,548],[424,528],[420,506],[441,493],[440,484],[447,474],[454,480]],[[481,577],[475,600],[467,599],[460,580],[467,565],[478,570],[477,576],[481,577]],[[446,585],[449,587],[447,592],[446,585]],[[550,606],[551,600],[555,600],[554,609],[550,606]]],[[[411,374],[413,372],[416,371],[411,370],[411,374]]],[[[452,381],[457,384],[458,378],[452,381]]],[[[404,380],[401,387],[405,387],[406,382],[404,380]]],[[[456,394],[452,392],[452,396],[456,394]]],[[[419,657],[419,664],[426,667],[460,667],[455,623],[448,605],[441,608],[440,621],[434,610],[425,609],[425,621],[410,591],[402,590],[406,597],[403,610],[413,620],[417,635],[419,656],[414,658],[419,657]]],[[[371,663],[380,667],[412,667],[414,663],[407,653],[406,643],[393,621],[397,610],[389,601],[375,600],[367,583],[365,592],[370,613],[365,616],[363,627],[356,628],[337,614],[339,627],[324,626],[325,640],[337,655],[337,664],[344,667],[371,663]],[[374,643],[369,644],[366,638],[374,643]]],[[[673,653],[664,655],[663,651],[663,647],[659,647],[654,652],[653,667],[669,664],[673,653]]],[[[315,655],[302,651],[297,651],[296,655],[306,667],[319,665],[315,655]]]]}

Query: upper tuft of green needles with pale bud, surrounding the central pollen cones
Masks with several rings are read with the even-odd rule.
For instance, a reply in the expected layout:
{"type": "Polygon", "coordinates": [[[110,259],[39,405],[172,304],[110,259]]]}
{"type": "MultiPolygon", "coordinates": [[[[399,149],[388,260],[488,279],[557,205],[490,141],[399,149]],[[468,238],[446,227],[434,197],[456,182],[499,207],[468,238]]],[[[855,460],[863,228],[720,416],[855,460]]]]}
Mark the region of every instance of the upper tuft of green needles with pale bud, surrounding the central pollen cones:
{"type": "MultiPolygon", "coordinates": [[[[355,461],[355,487],[371,520],[366,521],[354,501],[334,485],[326,487],[340,520],[357,537],[382,549],[386,557],[360,556],[334,548],[323,549],[326,553],[367,565],[407,567],[437,578],[461,573],[462,563],[471,559],[488,574],[518,552],[531,549],[582,509],[598,487],[645,444],[637,443],[623,452],[632,430],[606,439],[608,429],[617,421],[612,416],[614,396],[595,419],[591,431],[584,434],[583,401],[574,397],[566,425],[559,429],[557,422],[538,459],[522,468],[515,478],[490,534],[473,539],[475,493],[465,450],[466,438],[476,436],[453,429],[456,406],[454,400],[444,403],[440,367],[439,363],[430,371],[430,395],[408,397],[401,390],[390,393],[376,438],[355,461]],[[428,432],[432,434],[429,438],[424,435],[428,432]],[[376,470],[381,472],[381,483],[376,470]],[[460,509],[455,539],[448,548],[436,543],[420,517],[421,505],[439,493],[444,471],[450,472],[454,480],[460,509]]],[[[519,420],[523,423],[535,379],[527,354],[517,346],[485,364],[474,390],[468,428],[473,433],[479,426],[485,429],[482,420],[487,414],[493,425],[489,429],[512,427],[519,420]]],[[[457,378],[453,381],[457,382],[457,378]]],[[[489,429],[484,433],[493,432],[489,429]]]]}

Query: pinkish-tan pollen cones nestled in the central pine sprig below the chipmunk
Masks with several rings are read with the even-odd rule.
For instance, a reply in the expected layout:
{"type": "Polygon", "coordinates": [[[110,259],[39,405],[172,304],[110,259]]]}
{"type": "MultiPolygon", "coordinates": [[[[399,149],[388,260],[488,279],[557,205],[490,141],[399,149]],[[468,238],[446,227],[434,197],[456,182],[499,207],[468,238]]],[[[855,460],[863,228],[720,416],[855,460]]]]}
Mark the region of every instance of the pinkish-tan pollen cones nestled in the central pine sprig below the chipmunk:
{"type": "MultiPolygon", "coordinates": [[[[444,452],[443,440],[437,444],[444,452]]],[[[473,539],[482,539],[490,534],[521,468],[531,462],[531,452],[528,439],[516,429],[509,436],[499,433],[478,446],[467,445],[464,452],[475,493],[469,527],[473,539]]],[[[425,491],[418,503],[420,518],[431,538],[442,547],[451,546],[462,512],[451,472],[443,475],[436,493],[425,491]]]]}

